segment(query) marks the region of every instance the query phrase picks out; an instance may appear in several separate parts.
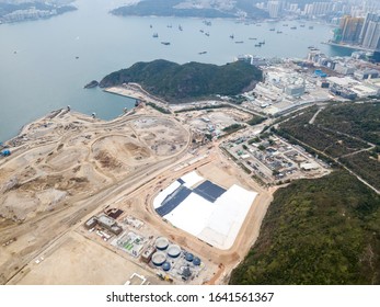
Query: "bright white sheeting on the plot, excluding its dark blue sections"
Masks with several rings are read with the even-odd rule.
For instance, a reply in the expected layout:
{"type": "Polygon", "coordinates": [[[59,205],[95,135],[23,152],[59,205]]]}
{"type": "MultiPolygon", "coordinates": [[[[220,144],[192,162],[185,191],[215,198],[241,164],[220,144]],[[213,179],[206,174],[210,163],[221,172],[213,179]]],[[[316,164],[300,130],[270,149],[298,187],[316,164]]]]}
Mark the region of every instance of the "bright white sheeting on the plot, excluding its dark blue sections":
{"type": "MultiPolygon", "coordinates": [[[[205,180],[195,171],[181,179],[188,189],[205,180]]],[[[154,208],[180,185],[175,181],[163,190],[153,202],[154,208]]],[[[232,247],[256,195],[256,192],[234,184],[212,203],[193,191],[164,218],[200,240],[227,250],[232,247]]]]}

